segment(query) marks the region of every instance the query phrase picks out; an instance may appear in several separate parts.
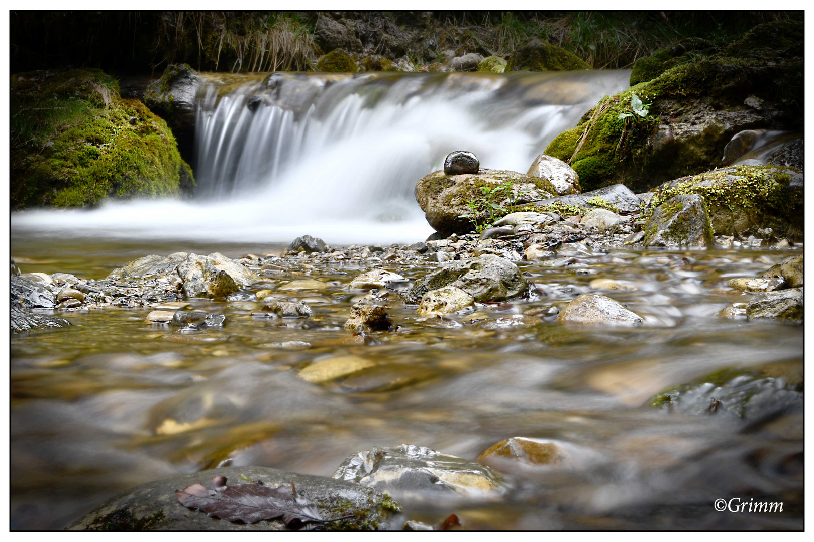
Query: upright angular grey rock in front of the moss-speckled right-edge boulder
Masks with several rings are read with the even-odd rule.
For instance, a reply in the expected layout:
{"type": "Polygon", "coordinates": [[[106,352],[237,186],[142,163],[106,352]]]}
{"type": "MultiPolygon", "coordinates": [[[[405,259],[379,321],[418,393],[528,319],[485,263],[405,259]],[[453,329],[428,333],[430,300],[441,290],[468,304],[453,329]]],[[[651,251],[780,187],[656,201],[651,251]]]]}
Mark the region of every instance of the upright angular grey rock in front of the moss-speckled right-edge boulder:
{"type": "Polygon", "coordinates": [[[672,197],[656,207],[644,232],[645,246],[713,245],[707,206],[697,194],[672,197]]]}

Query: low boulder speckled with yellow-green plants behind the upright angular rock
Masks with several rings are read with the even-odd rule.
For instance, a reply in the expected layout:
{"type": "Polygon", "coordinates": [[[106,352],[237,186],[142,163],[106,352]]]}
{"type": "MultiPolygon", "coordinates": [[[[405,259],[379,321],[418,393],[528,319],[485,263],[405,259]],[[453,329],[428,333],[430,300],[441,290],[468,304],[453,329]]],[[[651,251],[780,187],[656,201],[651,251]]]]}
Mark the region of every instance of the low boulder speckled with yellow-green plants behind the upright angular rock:
{"type": "Polygon", "coordinates": [[[698,194],[716,235],[803,239],[803,173],[793,167],[731,166],[671,180],[654,189],[649,205],[698,194]],[[759,230],[763,230],[760,232],[759,230]]]}

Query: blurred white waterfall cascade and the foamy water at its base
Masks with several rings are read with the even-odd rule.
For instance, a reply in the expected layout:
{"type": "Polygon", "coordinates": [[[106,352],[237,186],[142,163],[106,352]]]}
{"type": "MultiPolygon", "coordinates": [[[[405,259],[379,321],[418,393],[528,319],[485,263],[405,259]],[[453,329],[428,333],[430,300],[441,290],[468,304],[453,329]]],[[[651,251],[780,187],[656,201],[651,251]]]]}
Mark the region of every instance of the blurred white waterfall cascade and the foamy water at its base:
{"type": "Polygon", "coordinates": [[[481,167],[524,172],[599,98],[627,88],[628,77],[277,74],[219,100],[210,85],[199,93],[194,200],[27,210],[11,216],[12,235],[418,241],[432,229],[414,185],[446,154],[470,150],[481,167]]]}

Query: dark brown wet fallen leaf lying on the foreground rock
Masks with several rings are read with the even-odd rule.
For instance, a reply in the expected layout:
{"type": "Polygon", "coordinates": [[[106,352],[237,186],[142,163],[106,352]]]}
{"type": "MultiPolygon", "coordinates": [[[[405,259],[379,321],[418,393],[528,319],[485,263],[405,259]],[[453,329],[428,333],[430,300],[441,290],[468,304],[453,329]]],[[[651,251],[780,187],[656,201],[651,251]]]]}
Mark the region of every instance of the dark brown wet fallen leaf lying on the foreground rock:
{"type": "MultiPolygon", "coordinates": [[[[264,519],[282,518],[286,527],[298,528],[298,523],[326,522],[307,498],[291,487],[281,485],[271,488],[261,482],[227,486],[225,476],[212,479],[212,487],[193,483],[175,492],[178,501],[186,508],[197,508],[210,517],[230,522],[255,523],[264,519]]],[[[337,518],[329,521],[338,521],[337,518]]]]}

